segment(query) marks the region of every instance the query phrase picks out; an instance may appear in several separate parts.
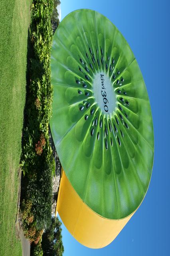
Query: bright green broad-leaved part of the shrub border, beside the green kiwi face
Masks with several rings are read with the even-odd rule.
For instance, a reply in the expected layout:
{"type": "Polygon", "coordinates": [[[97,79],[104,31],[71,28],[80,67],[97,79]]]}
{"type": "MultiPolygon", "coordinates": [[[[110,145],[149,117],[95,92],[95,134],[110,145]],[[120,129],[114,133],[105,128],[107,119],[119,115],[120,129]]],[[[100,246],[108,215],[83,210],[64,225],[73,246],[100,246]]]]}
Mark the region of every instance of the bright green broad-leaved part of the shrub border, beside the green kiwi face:
{"type": "Polygon", "coordinates": [[[23,154],[21,166],[24,173],[40,161],[46,144],[49,148],[48,124],[51,117],[51,13],[53,0],[34,0],[30,28],[30,62],[23,130],[23,154]],[[44,136],[43,144],[40,136],[44,136]],[[44,142],[45,140],[45,142],[44,142]]]}

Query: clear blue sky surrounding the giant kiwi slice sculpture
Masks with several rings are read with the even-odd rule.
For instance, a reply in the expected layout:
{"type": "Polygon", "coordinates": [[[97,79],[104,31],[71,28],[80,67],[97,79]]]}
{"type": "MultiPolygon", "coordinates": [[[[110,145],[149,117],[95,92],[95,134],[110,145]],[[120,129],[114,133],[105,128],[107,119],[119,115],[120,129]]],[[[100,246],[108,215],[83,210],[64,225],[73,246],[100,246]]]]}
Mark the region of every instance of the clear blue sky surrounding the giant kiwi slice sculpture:
{"type": "Polygon", "coordinates": [[[146,197],[107,247],[89,249],[62,225],[64,256],[164,256],[169,245],[169,15],[168,0],[61,0],[61,19],[80,8],[104,14],[126,38],[142,71],[154,122],[154,167],[146,197]],[[164,127],[163,127],[164,125],[164,127]]]}

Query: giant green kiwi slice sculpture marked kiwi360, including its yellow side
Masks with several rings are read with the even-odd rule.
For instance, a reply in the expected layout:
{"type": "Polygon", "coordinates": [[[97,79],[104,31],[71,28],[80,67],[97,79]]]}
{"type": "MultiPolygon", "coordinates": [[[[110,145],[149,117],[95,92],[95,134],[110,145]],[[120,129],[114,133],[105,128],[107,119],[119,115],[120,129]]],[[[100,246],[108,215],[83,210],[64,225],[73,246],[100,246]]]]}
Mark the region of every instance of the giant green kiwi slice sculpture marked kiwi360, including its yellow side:
{"type": "Polygon", "coordinates": [[[152,173],[150,102],[127,41],[105,16],[76,10],[51,53],[50,126],[63,168],[57,210],[82,244],[100,248],[140,206],[152,173]]]}

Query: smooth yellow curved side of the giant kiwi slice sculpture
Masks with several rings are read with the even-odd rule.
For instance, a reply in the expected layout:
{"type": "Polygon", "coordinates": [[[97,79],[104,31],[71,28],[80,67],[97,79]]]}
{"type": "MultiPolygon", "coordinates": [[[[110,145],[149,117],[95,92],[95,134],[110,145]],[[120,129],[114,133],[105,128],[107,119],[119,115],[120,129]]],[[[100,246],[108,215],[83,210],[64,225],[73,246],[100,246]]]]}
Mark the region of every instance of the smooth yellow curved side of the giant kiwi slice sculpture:
{"type": "Polygon", "coordinates": [[[73,237],[89,248],[102,248],[110,244],[134,214],[121,220],[110,220],[93,212],[75,192],[63,170],[57,211],[73,237]]]}

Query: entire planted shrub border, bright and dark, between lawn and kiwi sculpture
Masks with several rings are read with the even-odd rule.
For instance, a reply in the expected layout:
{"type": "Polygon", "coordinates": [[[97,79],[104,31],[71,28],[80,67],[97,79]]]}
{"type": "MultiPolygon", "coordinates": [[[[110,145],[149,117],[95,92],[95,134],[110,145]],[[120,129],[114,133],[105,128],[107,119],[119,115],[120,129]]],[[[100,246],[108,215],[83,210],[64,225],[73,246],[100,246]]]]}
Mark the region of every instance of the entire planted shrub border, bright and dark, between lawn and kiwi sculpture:
{"type": "Polygon", "coordinates": [[[25,190],[21,216],[25,236],[38,243],[51,224],[52,175],[55,160],[49,144],[53,88],[51,85],[51,15],[53,0],[32,1],[28,85],[21,166],[25,190]],[[25,208],[28,207],[28,210],[25,208]]]}

